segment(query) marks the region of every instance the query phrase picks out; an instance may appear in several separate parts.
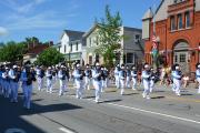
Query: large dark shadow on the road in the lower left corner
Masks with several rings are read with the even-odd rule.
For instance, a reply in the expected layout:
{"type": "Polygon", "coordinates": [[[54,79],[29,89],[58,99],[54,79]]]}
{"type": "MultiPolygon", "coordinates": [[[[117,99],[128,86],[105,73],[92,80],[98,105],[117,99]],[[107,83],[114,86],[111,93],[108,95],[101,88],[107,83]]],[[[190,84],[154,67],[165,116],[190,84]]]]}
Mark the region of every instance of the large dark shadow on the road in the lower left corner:
{"type": "MultiPolygon", "coordinates": [[[[41,100],[42,99],[38,99],[34,101],[41,100]]],[[[34,101],[31,104],[32,110],[26,110],[22,108],[22,100],[19,99],[18,103],[10,103],[9,99],[4,99],[0,95],[0,133],[6,133],[8,129],[21,129],[26,131],[26,133],[46,133],[46,131],[42,131],[41,129],[21,119],[21,116],[81,109],[80,106],[69,103],[39,105],[36,104],[34,101]]]]}

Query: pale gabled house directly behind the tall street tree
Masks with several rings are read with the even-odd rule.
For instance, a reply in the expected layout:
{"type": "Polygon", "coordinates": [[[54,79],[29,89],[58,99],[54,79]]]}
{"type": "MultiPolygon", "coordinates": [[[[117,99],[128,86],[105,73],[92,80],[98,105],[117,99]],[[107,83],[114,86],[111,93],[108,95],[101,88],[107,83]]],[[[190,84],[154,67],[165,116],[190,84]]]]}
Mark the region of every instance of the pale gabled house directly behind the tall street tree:
{"type": "MultiPolygon", "coordinates": [[[[143,60],[144,44],[141,40],[142,30],[137,28],[121,27],[120,34],[124,38],[121,40],[121,48],[116,52],[116,62],[124,64],[137,64],[143,60]]],[[[86,40],[86,63],[103,63],[103,58],[96,52],[100,44],[98,34],[98,24],[83,34],[86,40]]]]}

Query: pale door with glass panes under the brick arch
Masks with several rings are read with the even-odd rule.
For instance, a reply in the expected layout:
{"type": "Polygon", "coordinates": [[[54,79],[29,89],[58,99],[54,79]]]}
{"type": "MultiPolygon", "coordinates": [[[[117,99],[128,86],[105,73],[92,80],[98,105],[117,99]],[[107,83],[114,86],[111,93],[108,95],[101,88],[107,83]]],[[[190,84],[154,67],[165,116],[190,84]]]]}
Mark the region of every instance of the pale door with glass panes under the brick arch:
{"type": "Polygon", "coordinates": [[[189,72],[189,53],[188,51],[174,51],[173,63],[180,65],[183,73],[189,72]]]}

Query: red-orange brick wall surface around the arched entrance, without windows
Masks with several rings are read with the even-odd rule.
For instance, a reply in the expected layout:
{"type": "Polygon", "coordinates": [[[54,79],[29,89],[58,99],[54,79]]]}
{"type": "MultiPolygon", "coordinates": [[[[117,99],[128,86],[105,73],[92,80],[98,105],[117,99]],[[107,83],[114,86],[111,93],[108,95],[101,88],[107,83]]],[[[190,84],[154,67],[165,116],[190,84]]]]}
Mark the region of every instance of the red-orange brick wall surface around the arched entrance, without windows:
{"type": "MultiPolygon", "coordinates": [[[[183,27],[184,27],[183,22],[183,27]]],[[[151,35],[152,37],[152,30],[153,25],[151,23],[151,35]]],[[[171,31],[170,30],[170,17],[167,20],[159,21],[156,23],[156,33],[158,37],[160,37],[160,45],[159,50],[173,50],[173,47],[177,41],[179,40],[186,40],[189,45],[190,45],[190,53],[191,54],[191,60],[190,60],[190,69],[191,71],[196,70],[196,63],[198,63],[198,47],[200,43],[200,12],[192,12],[191,13],[191,29],[183,29],[183,30],[177,30],[177,31],[171,31]]],[[[149,54],[151,51],[151,45],[152,41],[146,40],[146,61],[151,63],[151,55],[149,54]]],[[[172,65],[173,60],[172,60],[172,52],[169,53],[168,55],[168,64],[172,65]]]]}

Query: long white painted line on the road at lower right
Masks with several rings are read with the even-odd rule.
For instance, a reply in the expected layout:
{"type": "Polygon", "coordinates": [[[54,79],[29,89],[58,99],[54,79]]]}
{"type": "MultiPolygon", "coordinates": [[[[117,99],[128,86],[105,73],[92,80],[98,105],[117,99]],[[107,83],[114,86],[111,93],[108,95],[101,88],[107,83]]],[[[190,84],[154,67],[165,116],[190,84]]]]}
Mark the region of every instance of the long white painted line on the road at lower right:
{"type": "Polygon", "coordinates": [[[107,104],[114,105],[114,106],[120,106],[120,108],[124,108],[124,109],[131,109],[131,110],[134,110],[134,111],[144,112],[144,113],[156,114],[156,115],[160,115],[160,116],[171,117],[171,119],[176,119],[176,120],[181,120],[181,121],[184,121],[184,122],[191,122],[191,123],[200,124],[199,121],[184,119],[184,117],[180,117],[180,116],[169,115],[169,114],[164,114],[164,113],[148,111],[148,110],[138,109],[138,108],[131,108],[131,106],[126,106],[126,105],[120,105],[120,104],[114,104],[114,103],[107,103],[107,104]]]}

